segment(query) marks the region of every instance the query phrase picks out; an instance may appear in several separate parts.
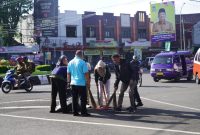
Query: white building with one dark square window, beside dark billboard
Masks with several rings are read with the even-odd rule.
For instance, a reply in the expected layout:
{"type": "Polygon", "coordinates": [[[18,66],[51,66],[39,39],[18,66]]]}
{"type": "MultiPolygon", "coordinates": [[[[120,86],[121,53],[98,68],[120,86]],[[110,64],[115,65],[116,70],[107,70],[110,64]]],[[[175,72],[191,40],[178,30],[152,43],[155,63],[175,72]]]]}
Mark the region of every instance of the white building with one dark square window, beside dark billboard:
{"type": "Polygon", "coordinates": [[[41,37],[43,46],[82,45],[82,15],[66,10],[58,14],[58,37],[41,37]]]}

